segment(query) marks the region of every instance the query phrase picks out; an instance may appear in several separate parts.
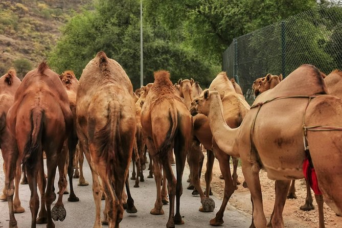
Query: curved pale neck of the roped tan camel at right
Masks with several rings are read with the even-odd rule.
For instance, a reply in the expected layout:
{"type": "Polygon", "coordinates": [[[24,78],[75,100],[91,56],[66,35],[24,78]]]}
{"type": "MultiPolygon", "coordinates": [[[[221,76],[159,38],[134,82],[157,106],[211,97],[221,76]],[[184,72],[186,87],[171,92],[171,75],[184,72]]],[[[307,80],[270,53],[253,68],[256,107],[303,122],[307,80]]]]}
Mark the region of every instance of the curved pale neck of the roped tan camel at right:
{"type": "Polygon", "coordinates": [[[219,95],[211,95],[209,125],[217,146],[226,154],[239,156],[234,151],[237,129],[230,128],[224,120],[223,106],[219,95]]]}

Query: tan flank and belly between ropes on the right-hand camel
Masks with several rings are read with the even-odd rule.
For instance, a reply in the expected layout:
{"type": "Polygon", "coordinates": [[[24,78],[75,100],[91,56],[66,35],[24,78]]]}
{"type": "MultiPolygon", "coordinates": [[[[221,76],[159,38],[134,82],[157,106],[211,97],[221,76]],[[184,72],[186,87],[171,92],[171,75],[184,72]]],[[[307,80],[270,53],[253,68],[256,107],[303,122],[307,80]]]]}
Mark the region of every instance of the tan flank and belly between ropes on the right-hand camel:
{"type": "Polygon", "coordinates": [[[253,143],[270,179],[304,177],[302,126],[305,105],[298,101],[284,99],[267,103],[256,118],[253,143]],[[296,102],[299,104],[295,105],[296,102]]]}

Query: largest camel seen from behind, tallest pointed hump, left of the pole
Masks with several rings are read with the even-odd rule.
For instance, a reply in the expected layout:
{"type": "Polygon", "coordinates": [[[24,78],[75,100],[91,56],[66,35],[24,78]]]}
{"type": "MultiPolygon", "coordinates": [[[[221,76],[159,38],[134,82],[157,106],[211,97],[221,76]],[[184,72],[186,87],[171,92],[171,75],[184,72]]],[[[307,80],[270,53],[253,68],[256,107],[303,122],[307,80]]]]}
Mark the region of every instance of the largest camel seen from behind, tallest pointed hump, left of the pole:
{"type": "Polygon", "coordinates": [[[85,66],[77,89],[77,135],[92,171],[96,206],[94,227],[100,219],[102,187],[109,227],[123,218],[122,195],[126,184],[128,213],[136,213],[128,187],[128,170],[135,135],[133,87],[121,65],[104,52],[85,66]]]}

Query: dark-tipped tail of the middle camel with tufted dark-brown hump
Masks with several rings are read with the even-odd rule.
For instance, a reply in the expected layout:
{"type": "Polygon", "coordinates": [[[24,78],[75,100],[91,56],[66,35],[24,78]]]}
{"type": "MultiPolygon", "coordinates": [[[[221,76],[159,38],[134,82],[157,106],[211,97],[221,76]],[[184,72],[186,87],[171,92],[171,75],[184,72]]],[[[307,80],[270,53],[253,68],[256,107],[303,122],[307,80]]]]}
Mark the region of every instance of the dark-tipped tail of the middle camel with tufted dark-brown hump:
{"type": "Polygon", "coordinates": [[[169,109],[169,114],[170,114],[171,126],[169,128],[169,131],[166,134],[165,141],[156,151],[157,156],[159,156],[159,160],[162,162],[165,162],[167,161],[167,159],[169,159],[168,153],[172,146],[172,142],[173,142],[177,125],[178,125],[177,109],[176,108],[169,109]]]}

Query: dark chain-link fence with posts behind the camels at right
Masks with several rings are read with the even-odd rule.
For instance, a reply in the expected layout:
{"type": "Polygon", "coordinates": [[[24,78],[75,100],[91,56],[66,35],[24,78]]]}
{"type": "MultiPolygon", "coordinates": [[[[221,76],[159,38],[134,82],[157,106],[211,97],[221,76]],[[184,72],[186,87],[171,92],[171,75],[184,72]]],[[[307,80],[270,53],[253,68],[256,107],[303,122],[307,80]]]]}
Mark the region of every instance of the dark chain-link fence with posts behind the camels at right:
{"type": "Polygon", "coordinates": [[[222,70],[253,102],[253,82],[270,73],[286,77],[300,65],[325,74],[342,70],[342,7],[316,8],[234,38],[224,51],[222,70]]]}

